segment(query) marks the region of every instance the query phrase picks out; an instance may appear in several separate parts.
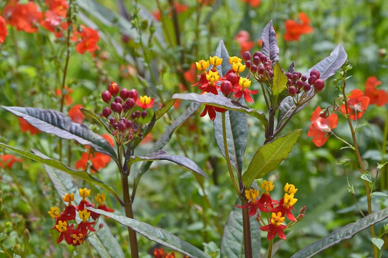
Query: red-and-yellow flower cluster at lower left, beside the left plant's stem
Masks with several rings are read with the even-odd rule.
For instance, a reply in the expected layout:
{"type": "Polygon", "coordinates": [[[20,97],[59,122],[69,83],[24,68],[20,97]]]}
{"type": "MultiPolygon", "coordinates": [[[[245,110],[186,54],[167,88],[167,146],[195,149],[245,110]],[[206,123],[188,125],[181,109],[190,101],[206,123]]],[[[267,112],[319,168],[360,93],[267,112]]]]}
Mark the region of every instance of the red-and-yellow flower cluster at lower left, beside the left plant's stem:
{"type": "MultiPolygon", "coordinates": [[[[68,202],[65,210],[59,212],[59,208],[55,206],[51,207],[48,212],[50,216],[56,220],[53,229],[60,233],[57,243],[60,243],[65,239],[65,242],[68,245],[78,246],[84,243],[85,239],[90,236],[90,232],[96,232],[95,226],[99,214],[88,210],[88,207],[95,207],[95,205],[91,204],[86,199],[91,194],[91,190],[86,188],[79,189],[79,194],[82,197],[82,200],[78,206],[72,204],[72,201],[74,201],[74,194],[66,194],[62,197],[65,202],[68,202]],[[81,220],[80,223],[77,223],[76,221],[77,212],[81,220]],[[73,224],[70,224],[71,222],[73,224]]],[[[98,203],[97,209],[113,212],[113,209],[106,207],[103,203],[105,199],[104,194],[97,194],[95,196],[95,200],[98,203]]],[[[98,227],[101,228],[102,224],[98,227]]]]}

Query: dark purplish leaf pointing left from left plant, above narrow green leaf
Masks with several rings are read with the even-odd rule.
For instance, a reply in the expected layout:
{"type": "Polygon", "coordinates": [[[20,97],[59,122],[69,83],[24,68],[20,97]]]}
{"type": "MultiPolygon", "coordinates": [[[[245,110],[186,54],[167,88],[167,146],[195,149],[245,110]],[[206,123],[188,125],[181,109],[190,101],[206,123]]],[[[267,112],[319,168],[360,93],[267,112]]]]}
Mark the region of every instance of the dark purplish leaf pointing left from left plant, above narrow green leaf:
{"type": "Polygon", "coordinates": [[[107,140],[94,133],[87,125],[74,123],[71,118],[58,111],[37,108],[2,107],[12,114],[23,118],[41,131],[53,133],[63,139],[76,140],[83,145],[90,145],[97,152],[109,155],[117,162],[116,152],[107,140]]]}

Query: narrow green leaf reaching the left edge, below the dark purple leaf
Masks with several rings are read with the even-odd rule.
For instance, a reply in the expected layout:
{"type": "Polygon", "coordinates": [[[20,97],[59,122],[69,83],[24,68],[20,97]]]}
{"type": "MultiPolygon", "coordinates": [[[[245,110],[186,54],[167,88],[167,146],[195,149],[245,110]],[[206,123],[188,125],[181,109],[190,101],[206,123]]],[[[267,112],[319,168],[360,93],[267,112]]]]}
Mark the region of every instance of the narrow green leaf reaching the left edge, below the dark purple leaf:
{"type": "MultiPolygon", "coordinates": [[[[105,189],[110,194],[112,194],[117,200],[120,201],[120,197],[117,195],[117,193],[110,186],[106,185],[105,183],[100,181],[98,178],[93,177],[92,175],[88,174],[85,171],[73,170],[73,169],[67,167],[66,165],[64,165],[62,162],[60,162],[58,160],[55,160],[55,159],[52,159],[52,158],[43,158],[43,157],[41,157],[39,155],[36,155],[34,153],[31,153],[31,152],[28,152],[28,151],[25,151],[25,150],[21,150],[21,149],[18,149],[18,148],[11,147],[11,146],[6,145],[6,144],[4,144],[2,142],[0,142],[0,146],[2,146],[4,148],[7,148],[7,149],[10,149],[10,150],[13,150],[16,153],[19,153],[20,155],[23,155],[24,157],[27,157],[27,158],[32,159],[34,161],[40,162],[40,163],[42,163],[44,165],[47,165],[47,166],[50,166],[52,168],[61,170],[61,171],[65,172],[65,173],[67,173],[69,175],[78,177],[78,178],[80,178],[82,180],[89,181],[92,184],[97,185],[97,186],[105,189]]],[[[36,151],[36,150],[34,150],[34,152],[38,153],[38,151],[36,151]]]]}

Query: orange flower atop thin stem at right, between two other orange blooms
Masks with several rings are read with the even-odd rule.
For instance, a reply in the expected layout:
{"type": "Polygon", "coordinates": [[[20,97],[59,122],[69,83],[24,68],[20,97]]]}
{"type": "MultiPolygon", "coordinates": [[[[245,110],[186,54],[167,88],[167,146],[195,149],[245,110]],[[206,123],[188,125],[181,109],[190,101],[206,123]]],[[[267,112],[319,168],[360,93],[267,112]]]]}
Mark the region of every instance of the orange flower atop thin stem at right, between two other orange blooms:
{"type": "MultiPolygon", "coordinates": [[[[369,97],[364,96],[364,93],[361,90],[355,89],[350,91],[350,95],[347,101],[349,118],[354,121],[362,118],[365,110],[368,107],[369,101],[369,97]]],[[[343,114],[347,114],[345,104],[341,106],[341,112],[343,114]]]]}

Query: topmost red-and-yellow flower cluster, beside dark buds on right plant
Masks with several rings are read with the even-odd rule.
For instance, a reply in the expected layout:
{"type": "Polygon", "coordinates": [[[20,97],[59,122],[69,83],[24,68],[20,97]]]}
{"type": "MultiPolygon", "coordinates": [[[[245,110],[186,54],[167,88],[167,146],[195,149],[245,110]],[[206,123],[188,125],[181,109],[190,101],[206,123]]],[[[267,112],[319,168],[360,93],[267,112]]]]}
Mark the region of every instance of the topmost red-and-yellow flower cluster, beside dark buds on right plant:
{"type": "MultiPolygon", "coordinates": [[[[246,65],[242,64],[242,59],[229,57],[229,64],[232,67],[224,76],[220,77],[217,66],[222,64],[222,60],[222,58],[214,56],[210,57],[207,61],[201,60],[196,62],[195,65],[202,74],[200,75],[199,81],[192,86],[197,86],[202,91],[201,94],[210,92],[218,95],[219,92],[222,92],[226,97],[232,98],[233,100],[239,100],[244,96],[247,102],[253,102],[250,94],[256,94],[258,91],[250,90],[248,87],[251,85],[251,80],[239,75],[246,67],[246,65]],[[210,65],[212,67],[207,71],[210,65]]],[[[214,120],[216,111],[225,112],[225,109],[206,105],[200,116],[203,117],[207,113],[210,119],[214,120]]]]}

